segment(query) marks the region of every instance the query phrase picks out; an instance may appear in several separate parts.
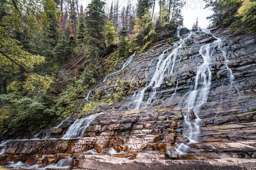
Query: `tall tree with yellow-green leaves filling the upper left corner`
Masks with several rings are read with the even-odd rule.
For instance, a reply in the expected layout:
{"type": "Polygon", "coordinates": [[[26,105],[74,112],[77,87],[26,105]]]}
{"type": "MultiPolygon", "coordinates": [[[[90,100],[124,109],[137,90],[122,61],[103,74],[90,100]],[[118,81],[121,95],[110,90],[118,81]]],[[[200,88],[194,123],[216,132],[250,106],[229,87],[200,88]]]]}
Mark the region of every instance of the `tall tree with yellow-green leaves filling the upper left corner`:
{"type": "MultiPolygon", "coordinates": [[[[41,31],[42,23],[49,31],[47,36],[54,40],[51,36],[55,35],[50,34],[54,27],[49,26],[49,22],[56,15],[54,0],[0,1],[0,75],[4,75],[1,92],[7,93],[9,89],[40,95],[47,91],[52,81],[35,71],[35,67],[46,62],[45,57],[29,53],[25,45],[41,31]]],[[[48,44],[51,43],[55,42],[48,44]]]]}

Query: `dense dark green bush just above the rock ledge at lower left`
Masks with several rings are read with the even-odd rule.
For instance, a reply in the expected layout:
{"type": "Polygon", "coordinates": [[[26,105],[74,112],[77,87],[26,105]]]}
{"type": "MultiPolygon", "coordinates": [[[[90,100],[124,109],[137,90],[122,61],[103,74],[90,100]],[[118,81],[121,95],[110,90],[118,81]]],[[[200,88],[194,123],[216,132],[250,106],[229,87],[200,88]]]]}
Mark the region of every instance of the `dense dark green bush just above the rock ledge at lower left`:
{"type": "Polygon", "coordinates": [[[50,120],[55,115],[52,96],[21,96],[17,91],[9,94],[1,94],[0,101],[7,104],[0,108],[9,116],[8,128],[12,131],[28,130],[32,132],[40,126],[44,120],[50,120]],[[8,108],[8,110],[6,110],[8,108]]]}

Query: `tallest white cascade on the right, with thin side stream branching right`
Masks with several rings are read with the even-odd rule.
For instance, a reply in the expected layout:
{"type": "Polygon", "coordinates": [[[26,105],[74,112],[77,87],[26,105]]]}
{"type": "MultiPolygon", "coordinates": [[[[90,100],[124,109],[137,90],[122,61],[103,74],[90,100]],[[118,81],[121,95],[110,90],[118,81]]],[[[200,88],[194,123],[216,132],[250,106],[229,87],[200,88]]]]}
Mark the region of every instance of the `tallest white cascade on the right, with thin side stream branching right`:
{"type": "MultiPolygon", "coordinates": [[[[212,35],[208,29],[202,29],[202,31],[212,35]]],[[[199,54],[201,54],[201,56],[203,57],[204,62],[197,68],[197,74],[195,76],[193,90],[185,94],[183,98],[186,97],[186,100],[181,101],[179,104],[180,107],[185,108],[185,110],[182,111],[184,117],[183,134],[186,138],[189,139],[189,143],[196,143],[198,135],[201,133],[199,128],[201,122],[201,119],[199,118],[199,113],[201,110],[201,105],[207,102],[211,86],[211,57],[215,48],[221,50],[221,38],[217,38],[213,35],[212,37],[217,40],[210,44],[201,46],[199,50],[199,54]],[[195,119],[193,120],[193,118],[195,119]]],[[[221,52],[225,59],[226,68],[230,72],[230,82],[232,85],[234,76],[231,69],[227,66],[226,52],[223,50],[221,50],[221,52]]],[[[176,150],[180,155],[185,154],[188,149],[189,147],[186,144],[176,143],[176,150]]]]}

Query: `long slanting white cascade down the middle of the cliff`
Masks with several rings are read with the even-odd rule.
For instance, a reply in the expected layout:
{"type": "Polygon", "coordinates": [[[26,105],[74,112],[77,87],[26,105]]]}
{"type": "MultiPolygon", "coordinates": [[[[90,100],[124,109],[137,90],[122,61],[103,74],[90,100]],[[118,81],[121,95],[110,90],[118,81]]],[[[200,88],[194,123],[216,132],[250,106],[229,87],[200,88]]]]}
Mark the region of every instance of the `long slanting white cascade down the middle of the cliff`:
{"type": "MultiPolygon", "coordinates": [[[[179,34],[178,34],[179,35],[179,34]]],[[[158,57],[158,62],[156,65],[156,71],[154,72],[153,77],[151,78],[149,84],[134,93],[134,95],[131,97],[131,101],[129,103],[130,105],[135,105],[134,110],[140,109],[140,105],[143,102],[145,91],[148,88],[151,88],[151,92],[148,95],[148,101],[146,105],[149,105],[153,102],[153,100],[156,98],[157,95],[157,88],[160,88],[160,86],[163,83],[164,77],[166,74],[172,74],[173,68],[175,66],[175,60],[177,56],[181,54],[183,51],[183,45],[186,43],[186,40],[188,40],[192,35],[192,32],[190,34],[182,39],[180,38],[179,42],[176,42],[171,48],[166,49],[163,51],[163,53],[158,57]],[[172,52],[166,57],[166,54],[172,49],[172,52]]]]}

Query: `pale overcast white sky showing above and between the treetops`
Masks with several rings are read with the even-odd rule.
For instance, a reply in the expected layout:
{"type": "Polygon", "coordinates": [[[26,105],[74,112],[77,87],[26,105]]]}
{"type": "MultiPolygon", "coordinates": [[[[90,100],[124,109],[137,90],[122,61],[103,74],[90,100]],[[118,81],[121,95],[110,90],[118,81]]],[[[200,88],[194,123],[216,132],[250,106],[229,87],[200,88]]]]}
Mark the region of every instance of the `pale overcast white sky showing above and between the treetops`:
{"type": "MultiPolygon", "coordinates": [[[[186,5],[182,9],[183,14],[183,24],[186,28],[191,28],[198,18],[198,23],[201,28],[207,28],[209,25],[209,20],[206,19],[209,15],[212,14],[211,10],[204,9],[205,2],[203,0],[184,0],[186,5]]],[[[84,8],[89,4],[91,0],[79,0],[79,4],[83,5],[84,8]]],[[[112,0],[105,0],[108,6],[111,6],[112,0]]],[[[113,0],[113,3],[117,0],[113,0]]],[[[119,4],[126,6],[128,0],[119,0],[119,4]]],[[[137,0],[131,0],[131,3],[135,5],[137,0]]],[[[121,10],[121,8],[120,8],[121,10]]],[[[156,0],[155,13],[159,12],[158,0],[156,0]]]]}

